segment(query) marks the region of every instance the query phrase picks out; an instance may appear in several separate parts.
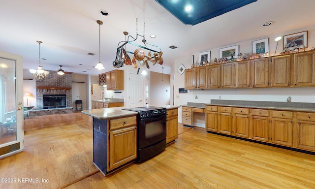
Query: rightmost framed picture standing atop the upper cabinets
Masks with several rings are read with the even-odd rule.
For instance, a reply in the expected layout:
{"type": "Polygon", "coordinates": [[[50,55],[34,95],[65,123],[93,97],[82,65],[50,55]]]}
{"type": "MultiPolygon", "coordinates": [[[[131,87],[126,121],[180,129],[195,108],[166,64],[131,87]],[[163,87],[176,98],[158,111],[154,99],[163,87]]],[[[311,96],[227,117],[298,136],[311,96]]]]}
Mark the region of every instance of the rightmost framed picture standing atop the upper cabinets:
{"type": "MultiPolygon", "coordinates": [[[[300,48],[307,47],[307,31],[284,35],[284,46],[287,45],[287,49],[291,50],[298,45],[300,48]]],[[[284,47],[285,48],[285,47],[284,47]]]]}

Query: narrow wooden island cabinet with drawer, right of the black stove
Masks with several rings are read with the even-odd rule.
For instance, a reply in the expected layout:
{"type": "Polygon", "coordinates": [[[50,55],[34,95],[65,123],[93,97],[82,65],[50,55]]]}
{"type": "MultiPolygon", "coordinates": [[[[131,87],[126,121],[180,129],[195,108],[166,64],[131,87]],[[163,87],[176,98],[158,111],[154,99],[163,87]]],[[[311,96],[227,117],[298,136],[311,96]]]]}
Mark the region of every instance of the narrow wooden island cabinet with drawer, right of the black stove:
{"type": "Polygon", "coordinates": [[[166,116],[166,144],[178,138],[178,108],[168,109],[166,116]]]}

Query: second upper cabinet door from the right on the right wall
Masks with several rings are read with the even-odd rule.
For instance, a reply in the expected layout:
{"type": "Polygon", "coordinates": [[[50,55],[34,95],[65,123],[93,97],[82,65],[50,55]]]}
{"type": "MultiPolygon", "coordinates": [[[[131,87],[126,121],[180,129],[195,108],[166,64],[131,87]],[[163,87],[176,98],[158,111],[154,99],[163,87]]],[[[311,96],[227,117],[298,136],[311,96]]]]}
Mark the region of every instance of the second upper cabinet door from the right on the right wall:
{"type": "Polygon", "coordinates": [[[291,75],[291,55],[271,58],[271,87],[289,87],[291,75]]]}

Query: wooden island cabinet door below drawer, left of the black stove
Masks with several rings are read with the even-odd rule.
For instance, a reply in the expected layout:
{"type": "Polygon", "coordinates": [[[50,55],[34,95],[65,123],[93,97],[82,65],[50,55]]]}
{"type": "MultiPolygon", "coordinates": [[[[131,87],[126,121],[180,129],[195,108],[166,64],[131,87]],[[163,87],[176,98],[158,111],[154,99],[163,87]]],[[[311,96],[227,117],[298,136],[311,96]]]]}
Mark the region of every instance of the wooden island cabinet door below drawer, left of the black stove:
{"type": "Polygon", "coordinates": [[[137,158],[136,127],[110,131],[108,171],[137,158]]]}

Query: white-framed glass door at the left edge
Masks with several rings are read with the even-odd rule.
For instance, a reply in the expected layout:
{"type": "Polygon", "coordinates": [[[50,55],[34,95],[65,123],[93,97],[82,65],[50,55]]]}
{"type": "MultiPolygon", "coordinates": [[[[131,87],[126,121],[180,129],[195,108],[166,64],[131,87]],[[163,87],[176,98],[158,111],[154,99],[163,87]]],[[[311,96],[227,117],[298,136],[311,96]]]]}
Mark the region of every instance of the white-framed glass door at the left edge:
{"type": "Polygon", "coordinates": [[[24,149],[22,56],[0,52],[0,158],[24,149]]]}

